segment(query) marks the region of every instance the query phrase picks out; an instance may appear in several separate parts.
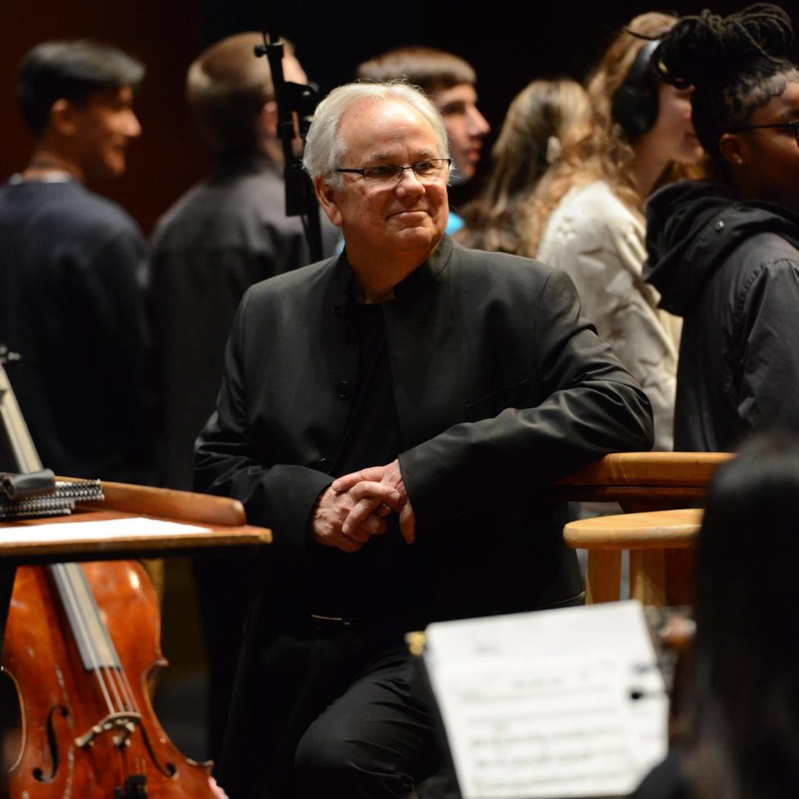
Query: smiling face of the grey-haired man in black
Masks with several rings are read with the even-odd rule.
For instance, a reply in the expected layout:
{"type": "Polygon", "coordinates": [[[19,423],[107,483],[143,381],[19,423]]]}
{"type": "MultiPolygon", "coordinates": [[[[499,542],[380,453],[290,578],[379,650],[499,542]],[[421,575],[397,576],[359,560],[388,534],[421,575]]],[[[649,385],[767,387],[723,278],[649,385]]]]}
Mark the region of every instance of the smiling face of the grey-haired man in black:
{"type": "MultiPolygon", "coordinates": [[[[442,157],[435,133],[418,111],[396,100],[358,101],[341,120],[347,144],[342,168],[383,164],[407,166],[442,157]]],[[[320,201],[347,242],[353,266],[380,266],[381,259],[402,258],[421,264],[447,226],[447,171],[421,181],[405,169],[399,181],[376,185],[356,173],[344,173],[339,187],[317,179],[320,201]]]]}

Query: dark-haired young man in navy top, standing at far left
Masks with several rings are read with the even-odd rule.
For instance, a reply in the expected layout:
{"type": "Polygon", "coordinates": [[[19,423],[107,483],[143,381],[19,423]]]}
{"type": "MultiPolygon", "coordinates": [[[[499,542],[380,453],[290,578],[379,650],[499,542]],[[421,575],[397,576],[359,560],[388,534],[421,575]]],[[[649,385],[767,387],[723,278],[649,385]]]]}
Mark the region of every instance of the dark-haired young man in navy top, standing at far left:
{"type": "Polygon", "coordinates": [[[45,467],[147,483],[145,241],[87,185],[125,173],[145,68],[113,47],[46,42],[23,58],[17,95],[34,136],[0,187],[0,342],[45,467]]]}

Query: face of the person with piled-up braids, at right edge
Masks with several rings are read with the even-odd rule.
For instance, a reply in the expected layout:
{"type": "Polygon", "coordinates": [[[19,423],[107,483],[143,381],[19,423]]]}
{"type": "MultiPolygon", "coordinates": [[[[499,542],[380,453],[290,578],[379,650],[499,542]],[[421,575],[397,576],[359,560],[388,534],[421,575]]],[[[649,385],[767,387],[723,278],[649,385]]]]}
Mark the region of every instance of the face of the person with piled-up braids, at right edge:
{"type": "MultiPolygon", "coordinates": [[[[799,121],[799,83],[753,111],[748,125],[799,121]]],[[[733,179],[745,197],[799,210],[799,144],[796,129],[757,128],[727,133],[736,148],[729,154],[733,179]]],[[[725,138],[722,137],[722,140],[725,138]]]]}

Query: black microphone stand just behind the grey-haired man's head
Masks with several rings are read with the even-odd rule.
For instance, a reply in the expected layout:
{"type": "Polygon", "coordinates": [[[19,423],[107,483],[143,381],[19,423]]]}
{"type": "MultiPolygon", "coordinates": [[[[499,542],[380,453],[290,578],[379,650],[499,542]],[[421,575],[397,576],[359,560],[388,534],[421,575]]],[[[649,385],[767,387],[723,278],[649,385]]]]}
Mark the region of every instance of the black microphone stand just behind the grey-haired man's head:
{"type": "Polygon", "coordinates": [[[255,46],[257,57],[266,56],[272,70],[277,104],[277,135],[283,144],[286,216],[303,217],[305,237],[311,260],[322,259],[322,229],[319,202],[302,159],[294,154],[292,142],[296,137],[294,114],[299,120],[302,141],[308,135],[311,117],[316,108],[316,91],[312,86],[286,81],[283,77],[283,42],[264,31],[264,44],[255,46]]]}

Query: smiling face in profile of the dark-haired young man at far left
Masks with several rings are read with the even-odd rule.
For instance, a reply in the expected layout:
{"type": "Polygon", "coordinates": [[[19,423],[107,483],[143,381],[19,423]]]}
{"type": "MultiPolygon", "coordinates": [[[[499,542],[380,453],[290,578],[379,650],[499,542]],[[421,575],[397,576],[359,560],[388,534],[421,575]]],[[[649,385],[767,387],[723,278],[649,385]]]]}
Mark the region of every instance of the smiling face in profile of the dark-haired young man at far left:
{"type": "Polygon", "coordinates": [[[86,181],[125,173],[130,141],[141,135],[133,113],[133,89],[94,92],[85,105],[73,105],[72,123],[74,149],[86,181]]]}

